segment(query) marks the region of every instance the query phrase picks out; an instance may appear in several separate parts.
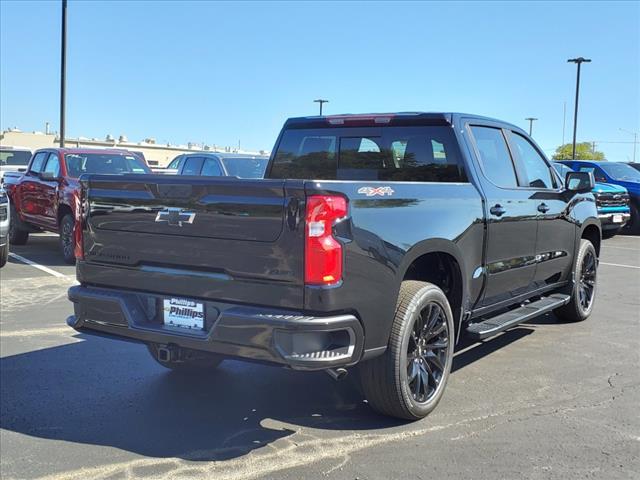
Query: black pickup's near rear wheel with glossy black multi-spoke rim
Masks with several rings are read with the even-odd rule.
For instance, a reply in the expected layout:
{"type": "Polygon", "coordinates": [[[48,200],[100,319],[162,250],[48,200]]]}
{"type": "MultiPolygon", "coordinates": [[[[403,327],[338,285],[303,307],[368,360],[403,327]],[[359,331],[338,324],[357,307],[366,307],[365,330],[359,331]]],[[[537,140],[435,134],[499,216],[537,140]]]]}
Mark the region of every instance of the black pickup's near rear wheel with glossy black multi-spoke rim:
{"type": "Polygon", "coordinates": [[[451,372],[454,339],[453,314],[442,290],[431,283],[402,282],[387,350],[360,365],[369,405],[406,420],[431,413],[451,372]]]}

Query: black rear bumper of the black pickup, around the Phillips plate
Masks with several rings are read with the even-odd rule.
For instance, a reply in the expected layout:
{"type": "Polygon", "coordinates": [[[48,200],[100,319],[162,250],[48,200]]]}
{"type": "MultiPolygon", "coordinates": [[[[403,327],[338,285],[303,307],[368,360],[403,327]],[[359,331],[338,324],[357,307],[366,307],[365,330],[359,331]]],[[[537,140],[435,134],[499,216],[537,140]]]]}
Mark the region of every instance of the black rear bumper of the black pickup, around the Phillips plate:
{"type": "Polygon", "coordinates": [[[364,332],[353,315],[313,316],[203,301],[204,330],[163,324],[166,296],[116,289],[74,286],[69,289],[75,330],[142,343],[266,361],[299,370],[350,366],[362,356],[364,332]]]}

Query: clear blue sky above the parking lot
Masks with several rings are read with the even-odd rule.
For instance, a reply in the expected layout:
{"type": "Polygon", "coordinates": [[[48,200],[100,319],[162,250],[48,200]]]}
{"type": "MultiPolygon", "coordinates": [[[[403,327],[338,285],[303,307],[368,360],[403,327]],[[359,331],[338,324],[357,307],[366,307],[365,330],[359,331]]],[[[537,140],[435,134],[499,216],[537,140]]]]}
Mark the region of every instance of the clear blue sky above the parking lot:
{"type": "MultiPolygon", "coordinates": [[[[60,1],[0,0],[0,128],[59,124],[60,1]]],[[[270,150],[288,117],[460,111],[629,161],[640,141],[640,2],[68,5],[67,136],[270,150]],[[566,103],[566,116],[564,106],[566,103]]],[[[638,146],[640,159],[640,146],[638,146]]],[[[640,160],[639,160],[640,161],[640,160]]]]}

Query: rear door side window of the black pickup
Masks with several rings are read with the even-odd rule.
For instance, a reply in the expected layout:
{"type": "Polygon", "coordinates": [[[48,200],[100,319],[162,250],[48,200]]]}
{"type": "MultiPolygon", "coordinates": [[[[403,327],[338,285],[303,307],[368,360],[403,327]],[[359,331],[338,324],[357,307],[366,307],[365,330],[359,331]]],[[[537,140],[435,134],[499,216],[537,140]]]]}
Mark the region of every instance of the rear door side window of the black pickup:
{"type": "Polygon", "coordinates": [[[502,130],[472,126],[471,132],[478,147],[480,166],[485,177],[499,187],[517,187],[516,172],[502,130]]]}

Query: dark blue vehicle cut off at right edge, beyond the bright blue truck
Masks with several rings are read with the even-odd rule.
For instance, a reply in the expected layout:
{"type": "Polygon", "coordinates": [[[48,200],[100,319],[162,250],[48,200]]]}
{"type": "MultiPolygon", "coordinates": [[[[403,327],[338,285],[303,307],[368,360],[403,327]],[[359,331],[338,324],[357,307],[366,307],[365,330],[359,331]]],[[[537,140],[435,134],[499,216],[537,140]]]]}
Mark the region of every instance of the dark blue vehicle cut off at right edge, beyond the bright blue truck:
{"type": "Polygon", "coordinates": [[[631,219],[625,230],[640,234],[640,172],[623,162],[594,162],[591,160],[563,160],[563,164],[580,172],[593,172],[596,182],[624,187],[629,192],[631,219]]]}

